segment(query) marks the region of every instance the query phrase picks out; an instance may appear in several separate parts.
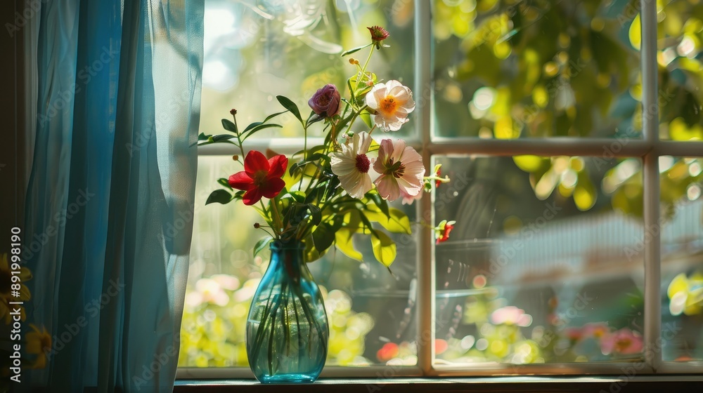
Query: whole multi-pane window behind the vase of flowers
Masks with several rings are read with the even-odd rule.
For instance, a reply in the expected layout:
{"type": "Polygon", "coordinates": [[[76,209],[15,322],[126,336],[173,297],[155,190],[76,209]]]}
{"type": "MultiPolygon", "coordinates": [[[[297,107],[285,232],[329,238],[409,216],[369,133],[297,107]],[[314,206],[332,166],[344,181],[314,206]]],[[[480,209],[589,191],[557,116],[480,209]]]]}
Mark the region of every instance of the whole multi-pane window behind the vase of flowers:
{"type": "MultiPolygon", "coordinates": [[[[330,315],[323,376],[699,371],[699,15],[692,0],[207,0],[201,128],[344,86],[340,44],[384,25],[375,72],[418,102],[401,132],[452,179],[396,206],[456,220],[450,241],[416,225],[396,238],[393,275],[340,253],[311,265],[330,315]]],[[[283,121],[254,147],[300,149],[283,121]]],[[[256,216],[203,206],[239,171],[233,153],[199,150],[181,378],[250,375],[256,216]]]]}

